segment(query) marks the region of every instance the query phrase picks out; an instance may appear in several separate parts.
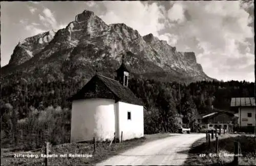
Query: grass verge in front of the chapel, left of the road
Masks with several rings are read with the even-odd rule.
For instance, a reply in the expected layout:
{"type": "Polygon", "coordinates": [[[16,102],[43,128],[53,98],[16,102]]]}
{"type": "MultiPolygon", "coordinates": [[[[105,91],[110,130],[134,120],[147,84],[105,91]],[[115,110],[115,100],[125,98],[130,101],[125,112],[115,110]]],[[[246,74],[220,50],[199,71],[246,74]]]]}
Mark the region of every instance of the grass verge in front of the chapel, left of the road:
{"type": "MultiPolygon", "coordinates": [[[[49,154],[58,155],[58,157],[49,157],[48,158],[48,165],[94,165],[97,162],[103,161],[117,155],[119,153],[124,152],[130,148],[146,144],[151,141],[164,139],[172,135],[165,134],[165,133],[158,133],[158,134],[150,134],[144,135],[139,139],[132,139],[123,141],[122,143],[112,143],[111,146],[110,142],[97,142],[96,143],[96,153],[94,153],[94,148],[92,143],[75,143],[75,144],[62,144],[57,146],[49,146],[49,154]],[[80,150],[78,150],[80,149],[80,150]],[[67,157],[60,157],[60,154],[67,154],[67,157]],[[91,157],[69,157],[69,154],[88,154],[91,157]]],[[[1,156],[6,156],[10,154],[34,154],[38,155],[38,158],[14,158],[13,156],[4,157],[2,159],[3,165],[42,165],[44,163],[44,157],[41,157],[41,154],[44,154],[44,149],[34,152],[24,152],[24,151],[14,151],[11,149],[2,149],[1,156]]]]}

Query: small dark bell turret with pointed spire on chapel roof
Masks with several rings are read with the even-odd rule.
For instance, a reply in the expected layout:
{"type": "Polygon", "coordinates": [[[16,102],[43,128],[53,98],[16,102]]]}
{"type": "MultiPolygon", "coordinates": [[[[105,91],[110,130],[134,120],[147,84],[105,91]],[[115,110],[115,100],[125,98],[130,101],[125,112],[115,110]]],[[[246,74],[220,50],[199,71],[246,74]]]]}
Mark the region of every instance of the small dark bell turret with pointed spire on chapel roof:
{"type": "Polygon", "coordinates": [[[116,80],[118,80],[123,86],[127,87],[130,71],[124,65],[124,55],[122,56],[122,64],[116,70],[116,73],[116,80]]]}

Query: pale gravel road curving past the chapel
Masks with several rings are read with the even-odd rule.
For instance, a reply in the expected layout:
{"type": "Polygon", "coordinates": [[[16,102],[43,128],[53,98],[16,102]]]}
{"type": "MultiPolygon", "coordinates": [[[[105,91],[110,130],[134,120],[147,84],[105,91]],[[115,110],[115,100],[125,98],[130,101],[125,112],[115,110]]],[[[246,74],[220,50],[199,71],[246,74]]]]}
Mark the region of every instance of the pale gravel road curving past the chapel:
{"type": "Polygon", "coordinates": [[[96,165],[182,165],[188,156],[187,150],[204,136],[204,133],[175,134],[127,150],[96,165]]]}

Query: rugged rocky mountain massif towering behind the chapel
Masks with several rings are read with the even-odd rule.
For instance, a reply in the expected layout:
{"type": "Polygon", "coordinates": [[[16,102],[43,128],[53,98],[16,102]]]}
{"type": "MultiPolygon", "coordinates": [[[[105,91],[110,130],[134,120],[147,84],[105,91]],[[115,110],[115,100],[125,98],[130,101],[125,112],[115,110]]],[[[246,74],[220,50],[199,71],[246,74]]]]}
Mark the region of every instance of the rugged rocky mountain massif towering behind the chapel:
{"type": "Polygon", "coordinates": [[[212,80],[197,64],[194,52],[179,52],[166,41],[152,34],[141,36],[123,23],[108,25],[87,10],[75,16],[65,29],[20,42],[9,64],[2,68],[2,74],[10,76],[17,70],[35,73],[39,68],[45,74],[40,76],[46,79],[80,79],[93,75],[95,64],[102,72],[111,73],[120,64],[122,53],[126,54],[125,62],[134,74],[157,73],[153,77],[158,79],[159,73],[164,73],[162,77],[167,81],[212,80]]]}

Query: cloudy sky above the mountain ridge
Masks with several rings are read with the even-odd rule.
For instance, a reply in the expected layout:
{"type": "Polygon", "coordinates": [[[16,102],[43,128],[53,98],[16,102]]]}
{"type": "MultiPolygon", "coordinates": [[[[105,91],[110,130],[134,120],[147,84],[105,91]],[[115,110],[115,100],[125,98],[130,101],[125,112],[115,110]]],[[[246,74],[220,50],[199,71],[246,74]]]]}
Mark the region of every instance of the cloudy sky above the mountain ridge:
{"type": "Polygon", "coordinates": [[[1,66],[19,40],[62,29],[83,10],[195,52],[212,78],[255,81],[253,1],[1,2],[1,66]]]}

